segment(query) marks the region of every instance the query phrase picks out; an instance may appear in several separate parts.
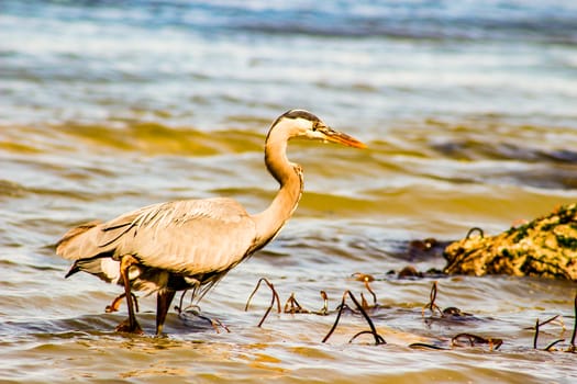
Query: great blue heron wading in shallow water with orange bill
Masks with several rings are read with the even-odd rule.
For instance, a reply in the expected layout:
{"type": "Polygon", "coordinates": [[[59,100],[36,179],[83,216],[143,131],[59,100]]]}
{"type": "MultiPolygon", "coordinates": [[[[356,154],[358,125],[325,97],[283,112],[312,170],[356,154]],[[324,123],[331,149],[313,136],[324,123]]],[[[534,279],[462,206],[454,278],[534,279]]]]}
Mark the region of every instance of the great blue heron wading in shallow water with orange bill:
{"type": "Polygon", "coordinates": [[[268,244],[290,218],[302,193],[302,169],[286,156],[293,137],[365,145],[331,129],[303,110],[291,110],[271,125],[265,163],[280,189],[263,212],[249,215],[231,199],[181,200],[145,206],[107,223],[68,230],[56,253],[74,260],[66,276],[84,271],[124,286],[129,318],[118,331],[142,334],[132,290],[157,294],[156,334],[160,335],[176,291],[202,295],[224,274],[268,244]]]}

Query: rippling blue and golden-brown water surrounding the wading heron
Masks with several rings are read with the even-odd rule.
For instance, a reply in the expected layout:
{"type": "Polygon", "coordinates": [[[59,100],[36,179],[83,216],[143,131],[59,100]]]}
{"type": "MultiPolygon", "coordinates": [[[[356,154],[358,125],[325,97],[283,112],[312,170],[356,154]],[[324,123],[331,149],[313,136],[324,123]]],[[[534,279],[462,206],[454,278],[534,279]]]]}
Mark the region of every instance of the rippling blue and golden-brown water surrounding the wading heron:
{"type": "MultiPolygon", "coordinates": [[[[574,282],[510,276],[398,279],[441,269],[437,247],[496,234],[577,196],[577,8],[572,1],[0,1],[0,381],[570,382],[574,282]],[[311,110],[369,146],[292,143],[306,193],[279,237],[200,303],[230,332],[171,312],[166,338],[113,332],[120,293],[64,274],[53,245],[73,225],[160,201],[228,195],[248,212],[277,185],[269,124],[311,110]],[[367,325],[333,310],[370,273],[367,325]],[[329,316],[271,314],[268,278],[329,316]],[[474,316],[431,319],[437,304],[474,316]],[[448,347],[459,332],[503,345],[448,347]]],[[[189,297],[185,298],[188,304],[189,297]]],[[[140,319],[154,329],[155,303],[140,319]]],[[[352,303],[348,302],[351,305],[352,303]]],[[[176,304],[176,303],[175,303],[176,304]]]]}

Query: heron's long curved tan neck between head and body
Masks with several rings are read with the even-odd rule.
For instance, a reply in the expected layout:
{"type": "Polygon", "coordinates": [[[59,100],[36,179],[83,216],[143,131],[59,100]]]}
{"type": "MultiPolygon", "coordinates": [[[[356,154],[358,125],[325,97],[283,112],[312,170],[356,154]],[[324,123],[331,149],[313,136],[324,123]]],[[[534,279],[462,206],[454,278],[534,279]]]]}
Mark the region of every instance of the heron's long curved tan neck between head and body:
{"type": "Polygon", "coordinates": [[[270,205],[253,216],[256,223],[257,242],[270,241],[290,218],[302,194],[302,171],[299,165],[287,158],[288,134],[284,129],[269,132],[265,143],[266,168],[280,184],[270,205]]]}

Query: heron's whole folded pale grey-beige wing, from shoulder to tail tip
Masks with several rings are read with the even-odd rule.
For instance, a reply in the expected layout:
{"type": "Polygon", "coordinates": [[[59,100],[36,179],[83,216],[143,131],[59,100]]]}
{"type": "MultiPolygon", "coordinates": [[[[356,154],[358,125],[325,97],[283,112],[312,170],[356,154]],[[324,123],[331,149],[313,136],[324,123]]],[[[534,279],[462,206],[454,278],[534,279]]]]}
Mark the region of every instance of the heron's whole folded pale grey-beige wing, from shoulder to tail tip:
{"type": "Polygon", "coordinates": [[[235,201],[186,200],[70,229],[56,252],[70,260],[133,255],[145,266],[193,275],[240,262],[255,235],[253,219],[235,201]]]}

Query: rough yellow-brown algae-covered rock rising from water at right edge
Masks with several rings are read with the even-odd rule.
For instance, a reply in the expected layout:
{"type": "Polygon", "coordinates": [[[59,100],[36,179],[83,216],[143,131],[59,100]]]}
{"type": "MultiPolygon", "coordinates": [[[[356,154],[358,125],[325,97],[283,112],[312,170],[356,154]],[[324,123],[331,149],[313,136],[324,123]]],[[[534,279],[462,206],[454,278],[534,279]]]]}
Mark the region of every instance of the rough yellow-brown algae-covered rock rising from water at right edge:
{"type": "Polygon", "coordinates": [[[577,281],[577,204],[519,227],[485,237],[482,231],[448,245],[445,273],[511,274],[577,281]]]}

